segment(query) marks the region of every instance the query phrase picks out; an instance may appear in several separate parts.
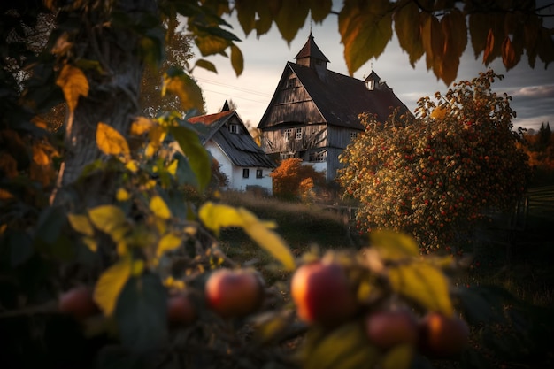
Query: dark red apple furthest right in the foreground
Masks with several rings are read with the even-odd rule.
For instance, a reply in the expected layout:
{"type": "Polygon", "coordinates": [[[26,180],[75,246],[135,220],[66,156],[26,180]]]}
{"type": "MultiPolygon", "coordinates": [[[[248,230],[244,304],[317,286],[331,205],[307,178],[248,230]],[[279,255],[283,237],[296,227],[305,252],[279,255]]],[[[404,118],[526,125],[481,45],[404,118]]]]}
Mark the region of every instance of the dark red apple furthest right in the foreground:
{"type": "Polygon", "coordinates": [[[419,350],[428,357],[451,357],[466,348],[469,328],[464,320],[430,312],[419,322],[419,350]]]}

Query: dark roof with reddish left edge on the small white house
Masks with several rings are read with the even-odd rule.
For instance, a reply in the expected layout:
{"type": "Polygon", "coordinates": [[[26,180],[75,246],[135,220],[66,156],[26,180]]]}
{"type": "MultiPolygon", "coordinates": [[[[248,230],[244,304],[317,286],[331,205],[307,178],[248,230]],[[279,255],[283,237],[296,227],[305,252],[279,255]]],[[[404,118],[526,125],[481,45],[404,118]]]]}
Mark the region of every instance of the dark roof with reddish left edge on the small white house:
{"type": "Polygon", "coordinates": [[[217,114],[202,115],[189,119],[193,124],[204,124],[208,132],[202,137],[202,143],[212,140],[236,166],[259,166],[275,168],[277,165],[262,150],[236,111],[221,111],[217,114]],[[231,133],[228,124],[240,126],[238,133],[231,133]]]}

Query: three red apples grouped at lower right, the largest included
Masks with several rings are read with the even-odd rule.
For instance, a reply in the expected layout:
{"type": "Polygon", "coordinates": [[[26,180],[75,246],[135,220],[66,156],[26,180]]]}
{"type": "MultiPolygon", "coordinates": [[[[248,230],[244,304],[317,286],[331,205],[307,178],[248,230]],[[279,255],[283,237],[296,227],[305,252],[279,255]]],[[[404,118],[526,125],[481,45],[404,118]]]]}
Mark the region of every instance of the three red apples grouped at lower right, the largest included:
{"type": "Polygon", "coordinates": [[[411,345],[427,357],[452,357],[466,347],[469,328],[457,317],[409,309],[375,310],[360,304],[344,267],[317,260],[300,266],[292,277],[291,296],[304,322],[332,333],[358,320],[368,342],[382,352],[411,345]]]}

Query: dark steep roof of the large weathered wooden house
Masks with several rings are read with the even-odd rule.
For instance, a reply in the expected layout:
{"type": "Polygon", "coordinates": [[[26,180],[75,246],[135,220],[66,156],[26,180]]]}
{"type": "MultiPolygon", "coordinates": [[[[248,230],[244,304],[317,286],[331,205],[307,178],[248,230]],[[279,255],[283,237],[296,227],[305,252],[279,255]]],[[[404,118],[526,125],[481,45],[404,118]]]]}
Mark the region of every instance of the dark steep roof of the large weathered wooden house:
{"type": "MultiPolygon", "coordinates": [[[[290,73],[296,74],[296,78],[305,88],[324,120],[312,123],[327,123],[332,126],[363,129],[358,119],[358,115],[361,113],[373,113],[377,115],[379,120],[385,121],[389,118],[391,108],[400,107],[401,110],[408,111],[406,105],[396,97],[392,89],[384,82],[376,83],[375,88],[370,91],[365,88],[364,81],[356,78],[327,70],[326,78],[321,79],[314,69],[288,62],[281,75],[281,81],[273,94],[272,101],[258,124],[258,128],[287,123],[285,121],[272,121],[271,117],[273,109],[286,110],[288,108],[287,104],[275,106],[275,103],[281,92],[281,86],[283,86],[290,73]]],[[[376,76],[376,73],[374,75],[376,76]]],[[[303,121],[297,116],[294,120],[296,122],[303,121]]],[[[304,122],[306,121],[309,120],[305,119],[304,122]]]]}

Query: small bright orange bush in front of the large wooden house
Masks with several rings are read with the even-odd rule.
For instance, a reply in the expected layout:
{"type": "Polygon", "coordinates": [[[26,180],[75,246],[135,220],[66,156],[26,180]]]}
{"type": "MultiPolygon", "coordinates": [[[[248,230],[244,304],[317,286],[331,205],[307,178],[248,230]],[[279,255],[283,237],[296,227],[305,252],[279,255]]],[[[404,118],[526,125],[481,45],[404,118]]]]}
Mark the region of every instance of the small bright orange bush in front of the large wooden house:
{"type": "Polygon", "coordinates": [[[325,182],[325,175],[302,165],[300,158],[287,158],[270,174],[273,179],[273,195],[282,198],[309,197],[316,184],[325,182]]]}

